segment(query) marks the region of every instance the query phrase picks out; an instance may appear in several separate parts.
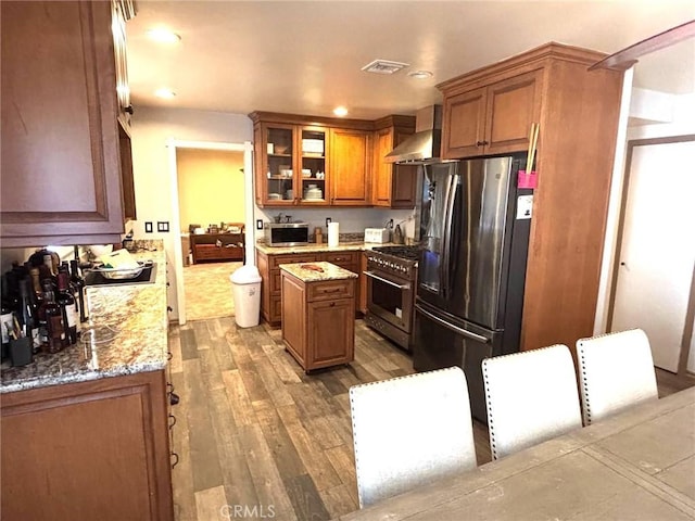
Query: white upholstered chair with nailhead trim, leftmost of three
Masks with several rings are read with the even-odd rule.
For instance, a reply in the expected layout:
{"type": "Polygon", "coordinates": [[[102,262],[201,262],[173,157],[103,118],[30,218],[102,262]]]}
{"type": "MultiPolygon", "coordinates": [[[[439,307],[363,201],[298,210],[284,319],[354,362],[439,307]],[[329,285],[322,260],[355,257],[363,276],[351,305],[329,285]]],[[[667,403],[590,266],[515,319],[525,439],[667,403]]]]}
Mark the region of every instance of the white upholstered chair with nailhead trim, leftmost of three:
{"type": "Polygon", "coordinates": [[[458,367],[350,387],[359,507],[477,466],[458,367]]]}

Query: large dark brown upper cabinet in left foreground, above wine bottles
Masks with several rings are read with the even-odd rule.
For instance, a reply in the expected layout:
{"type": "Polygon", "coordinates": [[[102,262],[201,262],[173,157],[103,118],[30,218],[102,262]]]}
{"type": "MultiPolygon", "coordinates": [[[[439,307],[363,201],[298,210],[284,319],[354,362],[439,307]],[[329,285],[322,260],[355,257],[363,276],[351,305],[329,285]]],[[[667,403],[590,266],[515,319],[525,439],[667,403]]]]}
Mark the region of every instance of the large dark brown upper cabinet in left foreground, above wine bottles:
{"type": "Polygon", "coordinates": [[[119,242],[109,2],[0,2],[2,245],[119,242]]]}

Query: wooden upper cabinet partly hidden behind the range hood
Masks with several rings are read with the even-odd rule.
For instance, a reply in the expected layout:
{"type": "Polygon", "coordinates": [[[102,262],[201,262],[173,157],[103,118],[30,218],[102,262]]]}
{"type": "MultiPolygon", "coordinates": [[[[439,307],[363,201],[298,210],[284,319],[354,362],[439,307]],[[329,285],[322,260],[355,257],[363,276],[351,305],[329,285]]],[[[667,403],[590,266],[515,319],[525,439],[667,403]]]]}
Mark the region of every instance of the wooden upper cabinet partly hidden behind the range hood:
{"type": "Polygon", "coordinates": [[[416,201],[417,166],[386,163],[383,157],[415,132],[413,116],[388,116],[375,122],[371,204],[412,208],[416,201]]]}

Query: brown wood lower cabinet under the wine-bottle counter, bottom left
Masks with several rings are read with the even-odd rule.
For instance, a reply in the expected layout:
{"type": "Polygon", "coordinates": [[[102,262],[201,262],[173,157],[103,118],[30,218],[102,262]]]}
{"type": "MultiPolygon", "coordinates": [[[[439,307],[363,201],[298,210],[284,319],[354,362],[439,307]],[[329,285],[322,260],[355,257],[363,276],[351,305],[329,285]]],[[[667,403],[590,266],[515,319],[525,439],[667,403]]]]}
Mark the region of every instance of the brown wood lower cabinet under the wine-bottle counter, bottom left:
{"type": "Polygon", "coordinates": [[[2,395],[2,519],[173,520],[163,370],[2,395]]]}

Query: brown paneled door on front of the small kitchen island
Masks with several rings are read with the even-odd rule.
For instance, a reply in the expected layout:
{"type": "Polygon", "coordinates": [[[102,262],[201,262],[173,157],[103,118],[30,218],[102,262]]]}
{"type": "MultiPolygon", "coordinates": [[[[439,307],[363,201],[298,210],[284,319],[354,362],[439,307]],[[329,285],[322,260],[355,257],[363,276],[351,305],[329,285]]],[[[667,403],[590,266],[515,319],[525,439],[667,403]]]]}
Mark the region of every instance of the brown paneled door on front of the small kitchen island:
{"type": "Polygon", "coordinates": [[[308,304],[308,369],[354,359],[355,301],[340,298],[308,304]]]}

